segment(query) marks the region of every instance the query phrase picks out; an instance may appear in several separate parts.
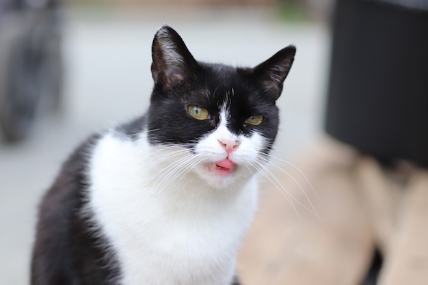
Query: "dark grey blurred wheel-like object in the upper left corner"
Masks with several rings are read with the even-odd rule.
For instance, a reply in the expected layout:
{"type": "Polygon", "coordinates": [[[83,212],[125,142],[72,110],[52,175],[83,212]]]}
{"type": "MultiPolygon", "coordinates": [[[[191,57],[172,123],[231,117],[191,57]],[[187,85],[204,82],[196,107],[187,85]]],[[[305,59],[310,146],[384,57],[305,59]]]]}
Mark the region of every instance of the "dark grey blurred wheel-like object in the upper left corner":
{"type": "Polygon", "coordinates": [[[24,139],[40,101],[59,105],[62,53],[59,3],[0,0],[0,135],[24,139]]]}

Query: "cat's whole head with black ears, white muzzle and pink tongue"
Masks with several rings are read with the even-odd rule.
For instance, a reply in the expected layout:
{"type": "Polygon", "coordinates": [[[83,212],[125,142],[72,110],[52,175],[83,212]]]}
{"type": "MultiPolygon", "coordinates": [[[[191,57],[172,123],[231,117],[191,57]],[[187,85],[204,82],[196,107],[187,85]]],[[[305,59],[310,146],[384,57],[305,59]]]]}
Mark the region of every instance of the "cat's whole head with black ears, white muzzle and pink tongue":
{"type": "Polygon", "coordinates": [[[248,178],[275,141],[276,100],[294,55],[295,47],[287,46],[254,68],[206,64],[193,58],[174,29],[162,27],[152,44],[150,144],[186,148],[176,164],[211,185],[248,178]]]}

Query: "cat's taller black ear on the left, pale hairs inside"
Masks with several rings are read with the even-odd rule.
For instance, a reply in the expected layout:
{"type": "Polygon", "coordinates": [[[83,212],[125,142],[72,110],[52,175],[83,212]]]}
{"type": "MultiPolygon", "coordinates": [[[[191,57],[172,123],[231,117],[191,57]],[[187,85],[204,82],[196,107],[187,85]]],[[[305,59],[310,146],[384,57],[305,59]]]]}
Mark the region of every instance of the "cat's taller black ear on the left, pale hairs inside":
{"type": "Polygon", "coordinates": [[[164,90],[187,79],[198,66],[182,38],[172,27],[163,26],[152,44],[152,77],[164,90]]]}

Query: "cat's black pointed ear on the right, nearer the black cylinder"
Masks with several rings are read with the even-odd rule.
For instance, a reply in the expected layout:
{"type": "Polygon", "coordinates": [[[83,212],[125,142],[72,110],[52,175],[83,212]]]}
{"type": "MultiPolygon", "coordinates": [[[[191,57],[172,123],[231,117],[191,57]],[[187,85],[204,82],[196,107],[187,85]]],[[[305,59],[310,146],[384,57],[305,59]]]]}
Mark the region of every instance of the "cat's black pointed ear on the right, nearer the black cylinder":
{"type": "Polygon", "coordinates": [[[252,70],[254,79],[262,85],[263,90],[272,96],[274,100],[281,95],[282,83],[284,83],[291,65],[293,65],[295,53],[295,46],[287,46],[252,70]]]}

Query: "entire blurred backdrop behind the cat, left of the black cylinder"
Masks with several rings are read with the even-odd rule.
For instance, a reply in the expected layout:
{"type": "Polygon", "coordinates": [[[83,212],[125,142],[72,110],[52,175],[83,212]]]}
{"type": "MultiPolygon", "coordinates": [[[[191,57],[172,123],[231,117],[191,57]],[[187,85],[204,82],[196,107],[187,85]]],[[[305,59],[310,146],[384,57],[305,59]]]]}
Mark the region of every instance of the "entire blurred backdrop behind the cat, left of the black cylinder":
{"type": "Polygon", "coordinates": [[[293,161],[324,133],[334,5],[0,0],[0,284],[29,283],[37,205],[67,155],[91,133],[148,107],[151,44],[161,25],[176,29],[206,62],[255,66],[297,46],[278,100],[275,150],[293,161]]]}

